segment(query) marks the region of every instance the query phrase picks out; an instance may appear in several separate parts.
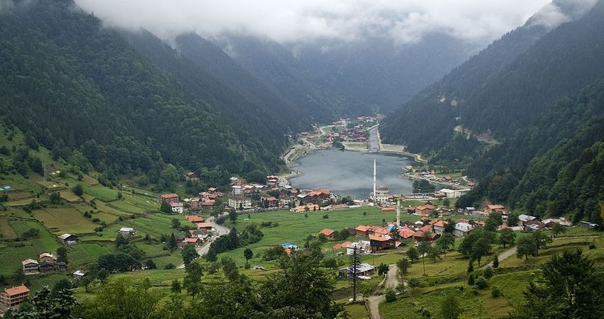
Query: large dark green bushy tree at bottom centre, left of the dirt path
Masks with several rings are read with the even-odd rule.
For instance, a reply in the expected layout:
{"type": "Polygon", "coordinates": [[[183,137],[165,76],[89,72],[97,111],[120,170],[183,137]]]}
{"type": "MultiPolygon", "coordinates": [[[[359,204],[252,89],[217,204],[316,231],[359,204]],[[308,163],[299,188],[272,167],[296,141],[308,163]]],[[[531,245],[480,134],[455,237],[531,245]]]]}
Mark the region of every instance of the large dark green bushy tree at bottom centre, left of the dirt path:
{"type": "Polygon", "coordinates": [[[304,252],[282,260],[281,272],[269,274],[259,287],[266,318],[335,318],[340,308],[331,298],[333,279],[319,260],[304,252]]]}

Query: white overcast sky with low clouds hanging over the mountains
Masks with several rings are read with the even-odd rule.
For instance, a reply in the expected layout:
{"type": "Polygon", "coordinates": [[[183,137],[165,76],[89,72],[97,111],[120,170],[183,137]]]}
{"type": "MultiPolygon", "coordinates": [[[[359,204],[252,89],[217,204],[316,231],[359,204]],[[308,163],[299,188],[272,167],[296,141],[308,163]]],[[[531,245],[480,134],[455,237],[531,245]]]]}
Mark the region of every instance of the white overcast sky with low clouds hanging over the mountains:
{"type": "Polygon", "coordinates": [[[244,33],[281,43],[384,36],[414,43],[441,31],[487,43],[550,0],[75,0],[107,26],[146,28],[164,40],[185,32],[244,33]]]}

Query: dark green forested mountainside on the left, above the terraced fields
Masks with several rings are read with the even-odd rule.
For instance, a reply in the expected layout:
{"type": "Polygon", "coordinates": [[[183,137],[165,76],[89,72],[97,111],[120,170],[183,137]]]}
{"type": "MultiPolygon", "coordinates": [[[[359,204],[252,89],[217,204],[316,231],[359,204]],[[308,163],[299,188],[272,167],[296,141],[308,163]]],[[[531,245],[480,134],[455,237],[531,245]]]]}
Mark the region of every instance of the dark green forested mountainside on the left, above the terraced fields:
{"type": "Polygon", "coordinates": [[[158,179],[165,161],[215,168],[216,179],[274,169],[289,129],[153,45],[161,50],[145,57],[72,1],[16,1],[0,11],[2,116],[51,150],[92,143],[84,154],[99,171],[158,179]]]}

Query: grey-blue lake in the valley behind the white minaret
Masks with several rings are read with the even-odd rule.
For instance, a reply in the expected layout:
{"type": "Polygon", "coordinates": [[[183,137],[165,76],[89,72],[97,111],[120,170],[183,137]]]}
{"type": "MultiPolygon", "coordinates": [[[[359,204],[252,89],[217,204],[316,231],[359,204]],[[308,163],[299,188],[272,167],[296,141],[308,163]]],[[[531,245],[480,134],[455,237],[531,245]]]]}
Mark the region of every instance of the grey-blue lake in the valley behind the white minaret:
{"type": "Polygon", "coordinates": [[[373,159],[377,161],[377,187],[390,194],[411,194],[413,181],[399,177],[413,159],[396,154],[317,150],[297,160],[301,177],[291,179],[298,189],[330,189],[340,196],[364,199],[373,191],[373,159]]]}

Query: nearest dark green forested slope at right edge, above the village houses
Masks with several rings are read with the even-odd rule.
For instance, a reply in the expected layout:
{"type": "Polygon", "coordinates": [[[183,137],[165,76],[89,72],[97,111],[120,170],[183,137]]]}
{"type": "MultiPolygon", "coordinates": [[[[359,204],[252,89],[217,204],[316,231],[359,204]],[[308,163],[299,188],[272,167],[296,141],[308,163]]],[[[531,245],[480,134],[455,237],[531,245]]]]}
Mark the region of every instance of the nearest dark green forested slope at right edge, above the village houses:
{"type": "Polygon", "coordinates": [[[601,224],[603,165],[604,78],[489,150],[468,170],[478,186],[457,205],[487,198],[536,216],[601,224]]]}

